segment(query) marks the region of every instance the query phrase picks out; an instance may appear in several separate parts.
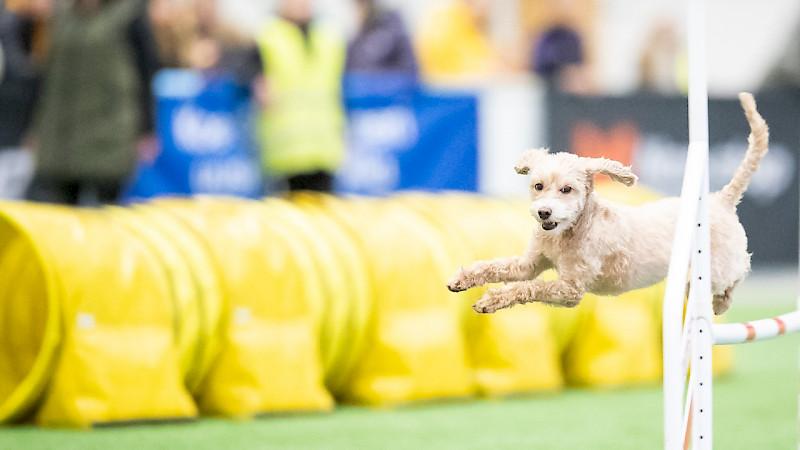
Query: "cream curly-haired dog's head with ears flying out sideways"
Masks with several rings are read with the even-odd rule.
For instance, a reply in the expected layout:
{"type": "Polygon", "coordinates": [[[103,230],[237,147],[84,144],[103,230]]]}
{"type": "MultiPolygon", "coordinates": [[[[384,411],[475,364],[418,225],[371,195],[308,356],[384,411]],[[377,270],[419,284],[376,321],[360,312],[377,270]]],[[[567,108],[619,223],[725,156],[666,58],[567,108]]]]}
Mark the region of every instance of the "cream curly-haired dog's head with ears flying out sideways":
{"type": "Polygon", "coordinates": [[[558,234],[575,225],[594,190],[594,176],[602,173],[626,186],[637,177],[630,167],[606,158],[583,158],[571,153],[528,150],[514,167],[529,175],[531,215],[545,233],[558,234]]]}

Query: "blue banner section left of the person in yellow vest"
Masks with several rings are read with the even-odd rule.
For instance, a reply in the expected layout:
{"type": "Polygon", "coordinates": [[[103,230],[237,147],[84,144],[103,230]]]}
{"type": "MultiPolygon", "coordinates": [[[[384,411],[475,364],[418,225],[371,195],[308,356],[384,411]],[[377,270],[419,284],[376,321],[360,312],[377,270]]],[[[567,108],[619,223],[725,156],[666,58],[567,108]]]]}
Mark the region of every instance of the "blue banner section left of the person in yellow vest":
{"type": "Polygon", "coordinates": [[[160,151],[140,164],[130,200],[160,195],[262,192],[252,107],[245,89],[228,79],[165,70],[154,80],[160,151]]]}

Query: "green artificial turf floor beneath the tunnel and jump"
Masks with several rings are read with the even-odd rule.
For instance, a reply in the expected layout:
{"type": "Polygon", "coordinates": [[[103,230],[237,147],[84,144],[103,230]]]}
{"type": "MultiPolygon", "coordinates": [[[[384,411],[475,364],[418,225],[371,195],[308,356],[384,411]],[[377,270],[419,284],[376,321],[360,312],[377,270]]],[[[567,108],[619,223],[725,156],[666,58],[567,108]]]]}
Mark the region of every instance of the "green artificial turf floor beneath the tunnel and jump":
{"type": "MultiPolygon", "coordinates": [[[[763,290],[760,290],[764,292],[763,290]]],[[[729,321],[787,312],[793,294],[734,304],[729,321]]],[[[734,371],[714,383],[714,447],[796,449],[798,337],[737,346],[734,371]]],[[[474,400],[398,410],[341,407],[332,414],[245,422],[92,431],[0,429],[0,449],[658,449],[660,386],[474,400]]]]}

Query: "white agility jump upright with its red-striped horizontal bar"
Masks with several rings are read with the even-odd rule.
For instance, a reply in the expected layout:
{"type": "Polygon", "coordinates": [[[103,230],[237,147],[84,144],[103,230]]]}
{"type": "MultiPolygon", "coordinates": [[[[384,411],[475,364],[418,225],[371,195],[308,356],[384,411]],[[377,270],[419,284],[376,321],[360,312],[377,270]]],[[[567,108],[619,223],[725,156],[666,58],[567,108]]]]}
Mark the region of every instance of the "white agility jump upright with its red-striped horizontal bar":
{"type": "MultiPolygon", "coordinates": [[[[714,324],[708,212],[708,87],[705,0],[688,0],[689,150],[664,292],[664,448],[712,448],[711,348],[800,331],[796,311],[773,319],[714,324]],[[691,262],[691,265],[690,265],[691,262]],[[686,274],[689,299],[684,318],[686,274]],[[688,376],[689,367],[691,375],[688,376]],[[684,400],[685,393],[685,400],[684,400]]],[[[800,300],[800,299],[799,299],[800,300]]]]}

